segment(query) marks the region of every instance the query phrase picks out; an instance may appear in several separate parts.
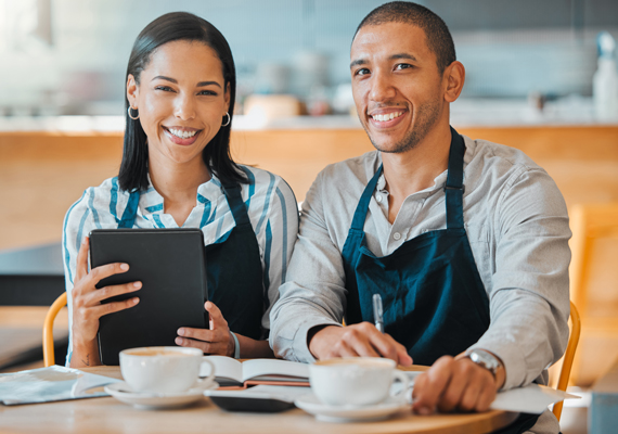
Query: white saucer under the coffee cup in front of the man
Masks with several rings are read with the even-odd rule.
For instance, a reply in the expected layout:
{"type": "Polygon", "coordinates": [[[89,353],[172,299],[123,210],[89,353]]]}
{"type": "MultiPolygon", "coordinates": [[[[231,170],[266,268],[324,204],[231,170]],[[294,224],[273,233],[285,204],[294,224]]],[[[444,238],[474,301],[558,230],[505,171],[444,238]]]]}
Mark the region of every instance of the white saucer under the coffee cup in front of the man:
{"type": "Polygon", "coordinates": [[[314,414],[324,422],[359,422],[386,419],[399,410],[411,408],[401,398],[388,398],[373,406],[330,406],[323,404],[312,393],[302,395],[294,401],[296,407],[314,414]]]}

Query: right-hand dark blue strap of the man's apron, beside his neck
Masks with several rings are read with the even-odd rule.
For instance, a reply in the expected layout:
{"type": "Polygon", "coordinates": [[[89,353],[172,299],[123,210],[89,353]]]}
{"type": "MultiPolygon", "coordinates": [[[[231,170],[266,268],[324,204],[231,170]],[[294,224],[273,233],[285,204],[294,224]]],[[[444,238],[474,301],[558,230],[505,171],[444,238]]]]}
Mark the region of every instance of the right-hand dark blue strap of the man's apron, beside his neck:
{"type": "Polygon", "coordinates": [[[447,195],[447,229],[463,229],[463,159],[465,144],[463,138],[451,128],[451,150],[449,171],[445,193],[447,195]]]}

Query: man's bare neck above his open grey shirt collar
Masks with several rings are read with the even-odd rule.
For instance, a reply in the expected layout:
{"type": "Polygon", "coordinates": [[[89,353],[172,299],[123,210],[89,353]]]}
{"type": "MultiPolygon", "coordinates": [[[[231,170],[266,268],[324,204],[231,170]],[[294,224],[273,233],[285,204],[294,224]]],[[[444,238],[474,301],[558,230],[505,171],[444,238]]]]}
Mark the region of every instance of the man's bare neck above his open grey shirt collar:
{"type": "Polygon", "coordinates": [[[434,186],[436,177],[449,167],[450,145],[451,131],[447,124],[432,130],[410,151],[382,154],[391,224],[405,197],[434,186]]]}

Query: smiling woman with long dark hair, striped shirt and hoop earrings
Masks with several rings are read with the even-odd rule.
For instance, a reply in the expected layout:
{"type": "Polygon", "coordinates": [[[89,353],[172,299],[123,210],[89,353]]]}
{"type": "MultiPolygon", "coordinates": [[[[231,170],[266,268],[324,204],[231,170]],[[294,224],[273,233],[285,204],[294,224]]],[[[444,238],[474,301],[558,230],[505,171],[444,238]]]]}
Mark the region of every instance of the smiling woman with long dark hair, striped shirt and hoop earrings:
{"type": "Polygon", "coordinates": [[[285,278],[298,213],[280,177],[231,159],[235,89],[232,53],[210,23],[169,13],[138,36],[127,68],[119,175],[86,190],[64,222],[70,367],[100,365],[99,319],[139,303],[141,282],[94,288],[128,265],[88,271],[88,233],[117,227],[201,228],[208,280],[217,281],[205,304],[210,330],[181,328],[176,343],[207,354],[272,357],[268,316],[285,278]],[[101,304],[131,292],[127,301],[101,304]]]}

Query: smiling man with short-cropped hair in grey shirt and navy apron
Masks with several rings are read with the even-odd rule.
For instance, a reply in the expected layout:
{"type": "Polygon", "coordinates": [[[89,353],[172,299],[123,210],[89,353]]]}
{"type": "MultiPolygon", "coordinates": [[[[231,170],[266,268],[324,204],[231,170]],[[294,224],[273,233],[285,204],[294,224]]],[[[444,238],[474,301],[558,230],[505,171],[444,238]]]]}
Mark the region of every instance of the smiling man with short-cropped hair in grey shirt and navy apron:
{"type": "MultiPolygon", "coordinates": [[[[450,128],[465,71],[429,10],[375,9],[350,59],[377,151],[326,167],[308,192],[271,312],[275,354],[432,365],[414,386],[422,414],[484,411],[501,388],[546,382],[568,340],[570,230],[555,183],[522,152],[450,128]]],[[[535,427],[557,430],[550,412],[535,427]]]]}

